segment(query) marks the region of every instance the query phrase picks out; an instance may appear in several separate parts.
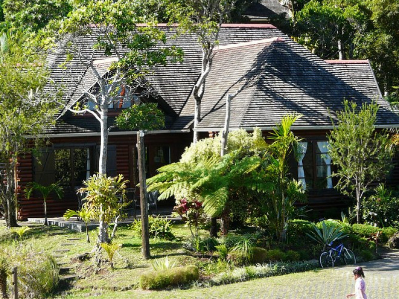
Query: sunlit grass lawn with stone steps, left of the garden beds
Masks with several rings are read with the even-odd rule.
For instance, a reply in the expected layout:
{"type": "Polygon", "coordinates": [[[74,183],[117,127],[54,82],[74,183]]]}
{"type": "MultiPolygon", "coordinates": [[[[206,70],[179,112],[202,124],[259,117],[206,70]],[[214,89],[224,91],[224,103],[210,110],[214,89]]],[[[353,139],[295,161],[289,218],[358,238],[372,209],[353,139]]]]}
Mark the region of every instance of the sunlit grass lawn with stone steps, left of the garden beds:
{"type": "MultiPolygon", "coordinates": [[[[142,259],[141,239],[134,237],[128,226],[118,227],[116,238],[113,241],[114,243],[121,243],[123,245],[114,257],[115,269],[111,270],[106,263],[97,269],[96,273],[96,267],[92,260],[76,261],[74,258],[84,253],[92,252],[97,239],[97,230],[89,232],[92,243],[87,244],[85,233],[78,233],[56,226],[27,225],[31,227],[31,230],[26,232],[23,237],[22,244],[24,246],[31,246],[34,250],[43,250],[45,253],[53,255],[64,255],[64,257],[56,258],[57,261],[64,263],[64,266],[73,267],[71,272],[78,275],[77,280],[73,281],[69,286],[63,287],[65,289],[64,292],[71,293],[68,296],[74,296],[72,298],[81,298],[82,295],[80,293],[82,292],[137,289],[140,275],[152,270],[151,260],[142,259]],[[68,241],[69,238],[82,239],[68,241]],[[69,246],[61,245],[65,243],[74,244],[69,246]],[[65,253],[54,252],[55,250],[64,248],[69,249],[69,251],[65,253]]],[[[172,263],[176,262],[176,266],[196,263],[198,259],[191,256],[182,247],[190,238],[189,229],[185,228],[183,224],[173,224],[172,232],[177,237],[175,241],[150,240],[152,259],[168,256],[172,263]]],[[[202,231],[201,234],[205,235],[207,232],[202,231]]],[[[0,250],[5,250],[6,248],[10,250],[13,246],[17,246],[17,244],[19,244],[19,241],[16,241],[16,235],[11,234],[4,226],[0,226],[0,250]]],[[[107,260],[105,252],[102,252],[102,260],[107,260]]],[[[119,292],[115,293],[111,291],[110,294],[116,296],[119,292]]]]}

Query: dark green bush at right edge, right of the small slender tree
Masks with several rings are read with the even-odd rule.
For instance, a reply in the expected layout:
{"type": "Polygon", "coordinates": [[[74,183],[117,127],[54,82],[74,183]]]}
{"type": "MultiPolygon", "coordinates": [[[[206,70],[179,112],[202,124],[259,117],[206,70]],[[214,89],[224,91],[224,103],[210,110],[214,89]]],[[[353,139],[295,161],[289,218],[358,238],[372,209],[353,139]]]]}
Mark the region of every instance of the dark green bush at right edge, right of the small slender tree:
{"type": "Polygon", "coordinates": [[[393,190],[379,184],[374,194],[363,201],[363,219],[379,227],[394,226],[399,221],[399,197],[393,190]]]}

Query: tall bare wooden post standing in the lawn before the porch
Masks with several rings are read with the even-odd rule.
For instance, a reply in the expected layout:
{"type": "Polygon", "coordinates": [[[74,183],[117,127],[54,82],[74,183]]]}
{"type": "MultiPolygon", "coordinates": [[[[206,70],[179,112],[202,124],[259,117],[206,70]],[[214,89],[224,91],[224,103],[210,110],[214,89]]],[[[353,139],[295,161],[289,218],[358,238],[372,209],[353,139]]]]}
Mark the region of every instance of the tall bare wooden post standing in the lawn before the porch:
{"type": "Polygon", "coordinates": [[[144,146],[144,131],[137,132],[137,149],[139,158],[139,180],[140,180],[140,212],[142,231],[143,258],[150,258],[150,235],[148,232],[148,204],[146,184],[146,148],[144,146]]]}

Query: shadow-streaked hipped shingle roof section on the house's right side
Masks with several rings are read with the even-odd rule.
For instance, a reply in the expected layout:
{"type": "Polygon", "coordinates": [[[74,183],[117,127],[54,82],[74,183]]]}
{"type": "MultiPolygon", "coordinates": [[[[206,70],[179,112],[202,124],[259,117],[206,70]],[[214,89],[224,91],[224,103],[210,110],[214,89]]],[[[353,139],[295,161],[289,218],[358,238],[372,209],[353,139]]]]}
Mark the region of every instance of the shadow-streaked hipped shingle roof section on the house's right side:
{"type": "MultiPolygon", "coordinates": [[[[286,114],[301,113],[293,129],[331,127],[343,100],[377,101],[377,125],[394,126],[399,117],[382,99],[368,61],[324,61],[292,40],[275,38],[220,47],[206,81],[199,131],[220,131],[225,96],[243,88],[231,102],[230,128],[269,130],[286,114]]],[[[194,117],[191,97],[176,128],[194,117]]]]}

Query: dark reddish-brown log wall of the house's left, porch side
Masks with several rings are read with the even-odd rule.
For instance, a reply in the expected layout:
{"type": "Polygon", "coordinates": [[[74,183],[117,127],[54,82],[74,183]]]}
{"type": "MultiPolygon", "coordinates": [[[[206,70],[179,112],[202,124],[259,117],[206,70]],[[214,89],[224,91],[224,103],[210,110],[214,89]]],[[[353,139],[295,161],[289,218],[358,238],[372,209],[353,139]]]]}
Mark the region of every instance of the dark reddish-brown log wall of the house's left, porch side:
{"type": "MultiPolygon", "coordinates": [[[[110,136],[108,145],[115,148],[116,173],[124,175],[125,179],[130,181],[130,187],[134,187],[134,150],[136,150],[136,134],[126,136],[110,136]]],[[[180,159],[184,149],[190,145],[192,137],[190,134],[153,134],[145,138],[146,147],[151,154],[154,148],[170,147],[170,160],[176,162],[180,159]]],[[[77,137],[77,138],[54,138],[51,140],[52,147],[56,148],[62,145],[73,147],[74,145],[99,145],[98,137],[77,137]]],[[[98,158],[98,157],[97,157],[98,158]]],[[[158,163],[159,164],[159,163],[158,163]]],[[[150,174],[154,175],[158,165],[154,159],[149,157],[150,174]]],[[[43,200],[39,196],[32,196],[26,199],[23,195],[23,189],[26,184],[34,180],[34,158],[31,155],[21,157],[17,165],[18,171],[18,219],[26,220],[28,217],[43,217],[43,200]]],[[[62,216],[67,209],[77,209],[77,198],[73,192],[65,192],[64,198],[57,199],[49,196],[47,199],[47,214],[49,217],[62,216]]]]}

